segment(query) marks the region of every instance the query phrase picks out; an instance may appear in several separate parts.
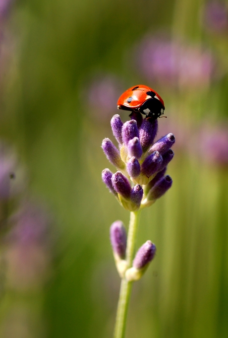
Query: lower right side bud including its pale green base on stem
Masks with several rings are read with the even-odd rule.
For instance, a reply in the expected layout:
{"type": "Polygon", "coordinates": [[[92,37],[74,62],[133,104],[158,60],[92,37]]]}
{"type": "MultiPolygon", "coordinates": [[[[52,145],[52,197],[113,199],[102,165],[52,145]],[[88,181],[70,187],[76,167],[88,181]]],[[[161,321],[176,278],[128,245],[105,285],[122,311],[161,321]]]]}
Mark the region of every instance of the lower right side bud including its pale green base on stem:
{"type": "Polygon", "coordinates": [[[135,259],[133,261],[133,267],[126,270],[125,278],[128,281],[138,280],[145,273],[149,266],[149,263],[153,260],[156,253],[156,246],[151,241],[146,241],[141,248],[139,248],[135,259]]]}

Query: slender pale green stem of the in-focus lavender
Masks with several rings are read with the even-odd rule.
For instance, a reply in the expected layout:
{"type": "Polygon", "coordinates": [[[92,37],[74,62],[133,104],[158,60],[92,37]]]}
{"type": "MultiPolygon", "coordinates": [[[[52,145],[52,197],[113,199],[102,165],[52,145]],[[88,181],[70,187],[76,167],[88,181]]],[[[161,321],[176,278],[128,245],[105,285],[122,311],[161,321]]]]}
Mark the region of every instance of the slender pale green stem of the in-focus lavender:
{"type": "MultiPolygon", "coordinates": [[[[131,211],[130,213],[130,223],[128,228],[126,249],[126,261],[128,268],[131,268],[132,266],[133,256],[135,253],[140,213],[141,210],[131,211]]],[[[114,338],[124,338],[125,336],[127,310],[131,295],[132,283],[132,281],[129,282],[125,278],[122,278],[116,313],[114,338]]]]}

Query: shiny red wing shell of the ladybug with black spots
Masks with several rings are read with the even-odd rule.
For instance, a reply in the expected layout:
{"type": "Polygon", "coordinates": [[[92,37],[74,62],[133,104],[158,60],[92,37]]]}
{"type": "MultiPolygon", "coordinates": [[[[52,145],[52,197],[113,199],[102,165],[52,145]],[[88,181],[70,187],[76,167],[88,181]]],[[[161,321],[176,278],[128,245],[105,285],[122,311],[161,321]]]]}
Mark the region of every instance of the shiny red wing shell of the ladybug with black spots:
{"type": "Polygon", "coordinates": [[[161,96],[152,88],[145,86],[143,84],[139,84],[137,86],[133,86],[127,89],[118,99],[117,108],[126,110],[134,110],[139,108],[146,100],[151,99],[151,96],[147,94],[147,92],[155,93],[155,98],[158,99],[163,105],[164,109],[164,101],[161,96]]]}

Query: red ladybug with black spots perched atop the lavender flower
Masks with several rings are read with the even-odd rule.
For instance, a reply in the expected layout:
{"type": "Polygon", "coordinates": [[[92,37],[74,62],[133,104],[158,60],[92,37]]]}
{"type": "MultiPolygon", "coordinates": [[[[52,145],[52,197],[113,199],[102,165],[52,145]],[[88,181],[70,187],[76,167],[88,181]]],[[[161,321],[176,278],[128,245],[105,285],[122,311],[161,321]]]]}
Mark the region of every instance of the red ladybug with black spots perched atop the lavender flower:
{"type": "Polygon", "coordinates": [[[154,89],[143,84],[127,89],[119,97],[117,108],[129,110],[132,113],[139,112],[152,121],[161,117],[165,110],[161,96],[154,89]]]}

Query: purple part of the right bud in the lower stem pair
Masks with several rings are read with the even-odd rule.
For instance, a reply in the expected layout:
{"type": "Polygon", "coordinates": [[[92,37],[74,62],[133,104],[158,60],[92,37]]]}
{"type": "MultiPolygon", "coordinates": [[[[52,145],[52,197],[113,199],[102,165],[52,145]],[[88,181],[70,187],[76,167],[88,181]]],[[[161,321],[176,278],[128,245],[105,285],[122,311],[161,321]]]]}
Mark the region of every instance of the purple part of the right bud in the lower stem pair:
{"type": "Polygon", "coordinates": [[[133,261],[133,267],[136,269],[143,269],[148,263],[150,263],[156,253],[156,246],[151,241],[146,241],[141,248],[139,248],[135,259],[133,261]]]}

